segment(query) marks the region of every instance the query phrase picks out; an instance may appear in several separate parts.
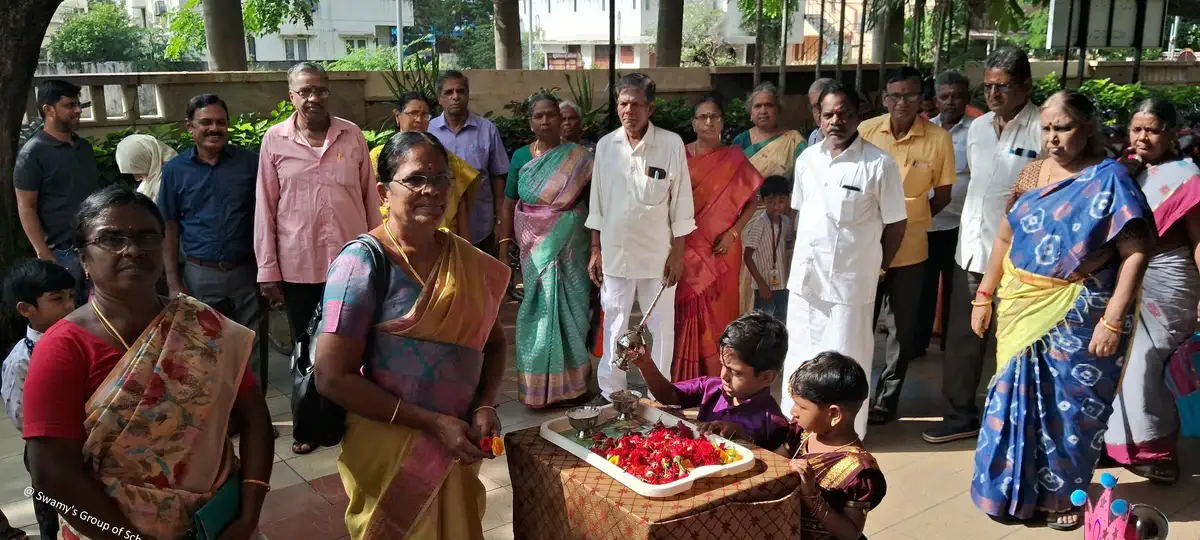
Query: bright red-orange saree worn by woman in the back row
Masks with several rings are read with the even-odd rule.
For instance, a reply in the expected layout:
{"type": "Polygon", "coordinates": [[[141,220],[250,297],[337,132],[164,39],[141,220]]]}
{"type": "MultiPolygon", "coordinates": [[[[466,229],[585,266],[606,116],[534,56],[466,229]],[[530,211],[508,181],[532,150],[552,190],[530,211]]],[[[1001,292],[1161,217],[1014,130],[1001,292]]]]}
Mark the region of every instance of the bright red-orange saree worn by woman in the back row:
{"type": "Polygon", "coordinates": [[[689,158],[688,170],[696,230],[685,240],[683,277],[676,289],[674,382],[721,374],[716,342],[740,312],[742,241],[736,239],[724,256],[713,254],[713,242],[737,223],[763,182],[733,146],[689,158]]]}

